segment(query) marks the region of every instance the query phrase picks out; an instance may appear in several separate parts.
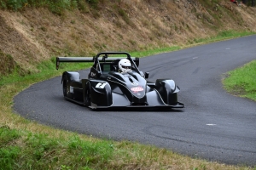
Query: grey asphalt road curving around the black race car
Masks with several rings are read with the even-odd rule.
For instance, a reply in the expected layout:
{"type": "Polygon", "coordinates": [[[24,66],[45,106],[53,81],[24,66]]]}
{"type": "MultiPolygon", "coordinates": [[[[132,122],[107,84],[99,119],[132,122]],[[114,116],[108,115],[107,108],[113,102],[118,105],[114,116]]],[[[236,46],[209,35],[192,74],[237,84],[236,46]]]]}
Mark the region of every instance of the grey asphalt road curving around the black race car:
{"type": "MultiPolygon", "coordinates": [[[[62,96],[61,77],[15,96],[14,110],[38,122],[96,137],[154,144],[228,164],[256,165],[256,103],[227,94],[226,71],[256,59],[256,36],[215,42],[140,60],[149,80],[172,78],[185,108],[176,111],[90,111],[62,96]]],[[[79,71],[87,77],[88,70],[79,71]]]]}

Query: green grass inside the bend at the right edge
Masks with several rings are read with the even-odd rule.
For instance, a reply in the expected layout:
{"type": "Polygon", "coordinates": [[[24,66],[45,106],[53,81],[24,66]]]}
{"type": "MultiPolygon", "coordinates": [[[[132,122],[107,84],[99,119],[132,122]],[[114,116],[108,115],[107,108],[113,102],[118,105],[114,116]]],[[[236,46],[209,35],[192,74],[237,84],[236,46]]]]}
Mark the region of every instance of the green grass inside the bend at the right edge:
{"type": "Polygon", "coordinates": [[[225,76],[223,83],[228,92],[256,101],[256,60],[225,76]]]}

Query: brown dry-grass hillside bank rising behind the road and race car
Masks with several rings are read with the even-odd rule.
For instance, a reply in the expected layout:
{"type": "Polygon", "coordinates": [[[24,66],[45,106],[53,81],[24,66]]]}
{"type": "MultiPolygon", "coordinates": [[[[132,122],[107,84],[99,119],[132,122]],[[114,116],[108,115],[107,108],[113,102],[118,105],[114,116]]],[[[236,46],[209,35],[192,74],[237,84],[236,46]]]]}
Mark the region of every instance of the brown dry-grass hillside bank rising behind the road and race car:
{"type": "Polygon", "coordinates": [[[256,8],[228,0],[101,2],[61,14],[0,10],[0,77],[38,71],[37,63],[57,55],[182,46],[223,31],[256,31],[256,8]]]}

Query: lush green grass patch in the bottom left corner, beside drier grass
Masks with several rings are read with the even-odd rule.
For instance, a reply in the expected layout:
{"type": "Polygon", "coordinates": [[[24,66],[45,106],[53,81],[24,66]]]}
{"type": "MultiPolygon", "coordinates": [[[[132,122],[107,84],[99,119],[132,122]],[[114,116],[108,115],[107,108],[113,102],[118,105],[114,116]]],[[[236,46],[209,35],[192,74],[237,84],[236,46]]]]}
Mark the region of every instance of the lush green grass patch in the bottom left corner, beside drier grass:
{"type": "Polygon", "coordinates": [[[111,141],[84,141],[76,134],[52,139],[4,126],[0,139],[0,169],[104,169],[113,159],[111,141]]]}

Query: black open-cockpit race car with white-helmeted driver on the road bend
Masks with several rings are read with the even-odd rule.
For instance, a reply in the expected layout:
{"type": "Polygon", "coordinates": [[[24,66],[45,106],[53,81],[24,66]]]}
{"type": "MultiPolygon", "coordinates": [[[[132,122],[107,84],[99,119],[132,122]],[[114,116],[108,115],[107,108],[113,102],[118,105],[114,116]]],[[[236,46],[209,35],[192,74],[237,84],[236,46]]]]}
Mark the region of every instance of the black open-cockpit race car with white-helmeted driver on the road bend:
{"type": "Polygon", "coordinates": [[[126,52],[102,52],[94,57],[57,57],[61,62],[91,62],[88,78],[79,72],[64,71],[61,78],[64,98],[91,109],[116,107],[183,108],[177,101],[179,88],[172,79],[148,82],[149,73],[139,71],[139,58],[126,52]]]}

